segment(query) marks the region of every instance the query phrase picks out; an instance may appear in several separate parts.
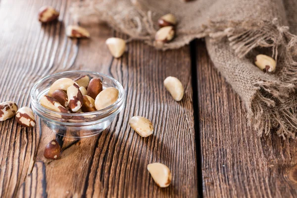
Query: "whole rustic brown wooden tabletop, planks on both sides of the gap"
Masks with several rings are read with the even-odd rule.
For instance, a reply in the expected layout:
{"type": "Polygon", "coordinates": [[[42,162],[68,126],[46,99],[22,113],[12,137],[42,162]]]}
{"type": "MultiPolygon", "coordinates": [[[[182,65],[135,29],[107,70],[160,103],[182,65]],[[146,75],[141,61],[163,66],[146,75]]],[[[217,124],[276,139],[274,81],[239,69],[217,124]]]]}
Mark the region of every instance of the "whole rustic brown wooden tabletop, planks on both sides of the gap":
{"type": "Polygon", "coordinates": [[[101,135],[84,140],[60,138],[39,118],[33,129],[14,118],[0,122],[0,197],[297,197],[297,142],[257,137],[203,41],[165,52],[132,42],[116,59],[105,40],[126,37],[107,26],[85,26],[90,40],[65,36],[73,23],[70,4],[0,0],[0,101],[30,105],[37,80],[88,70],[123,85],[125,108],[101,135]],[[46,4],[60,10],[60,22],[40,24],[36,15],[46,4]],[[185,86],[182,101],[166,92],[167,76],[185,86]],[[142,138],[130,128],[134,115],[153,122],[152,136],[142,138]],[[62,145],[54,161],[43,156],[52,139],[62,145]],[[171,169],[168,188],[154,184],[151,162],[171,169]]]}

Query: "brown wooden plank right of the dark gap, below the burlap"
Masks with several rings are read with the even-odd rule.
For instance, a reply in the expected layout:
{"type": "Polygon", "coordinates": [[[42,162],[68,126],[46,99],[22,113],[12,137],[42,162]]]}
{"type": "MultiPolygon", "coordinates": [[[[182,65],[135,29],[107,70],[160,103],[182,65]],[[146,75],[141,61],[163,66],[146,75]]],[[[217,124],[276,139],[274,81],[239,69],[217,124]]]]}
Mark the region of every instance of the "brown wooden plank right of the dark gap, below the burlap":
{"type": "Polygon", "coordinates": [[[297,141],[257,137],[244,104],[197,44],[203,196],[297,197],[297,141]]]}

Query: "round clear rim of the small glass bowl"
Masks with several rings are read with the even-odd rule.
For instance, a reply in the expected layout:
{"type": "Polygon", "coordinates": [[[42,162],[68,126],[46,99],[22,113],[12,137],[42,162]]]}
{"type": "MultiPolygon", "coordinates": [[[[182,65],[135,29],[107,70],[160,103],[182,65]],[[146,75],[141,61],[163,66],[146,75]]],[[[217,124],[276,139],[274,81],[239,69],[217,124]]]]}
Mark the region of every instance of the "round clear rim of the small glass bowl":
{"type": "Polygon", "coordinates": [[[54,114],[57,114],[57,115],[64,115],[64,116],[89,116],[89,115],[98,115],[98,116],[104,116],[110,112],[112,112],[114,109],[118,108],[121,106],[121,104],[123,103],[124,101],[124,88],[123,86],[117,81],[115,80],[114,78],[110,77],[110,76],[107,76],[105,74],[101,74],[99,72],[92,72],[92,71],[84,71],[84,70],[74,70],[74,71],[64,71],[64,72],[59,72],[59,73],[55,73],[55,74],[52,74],[52,75],[48,75],[42,79],[40,79],[39,81],[37,81],[34,86],[32,87],[31,89],[31,92],[30,92],[30,97],[31,97],[31,102],[32,102],[32,105],[35,106],[35,108],[37,108],[38,110],[40,111],[43,111],[44,113],[54,113],[54,114]],[[38,85],[40,85],[41,83],[43,83],[44,81],[48,80],[49,78],[52,78],[54,76],[57,76],[57,75],[61,75],[61,74],[67,74],[67,73],[89,73],[89,74],[93,74],[93,75],[97,75],[97,76],[102,76],[102,77],[105,77],[105,78],[108,78],[110,79],[112,82],[114,82],[118,88],[119,88],[119,97],[118,99],[110,106],[107,106],[103,109],[100,109],[100,110],[97,110],[97,111],[92,111],[92,112],[86,112],[86,113],[61,113],[61,112],[56,112],[56,111],[53,111],[53,110],[50,110],[48,108],[45,108],[43,107],[38,101],[37,101],[37,96],[35,96],[35,92],[36,92],[36,89],[38,87],[38,85]]]}

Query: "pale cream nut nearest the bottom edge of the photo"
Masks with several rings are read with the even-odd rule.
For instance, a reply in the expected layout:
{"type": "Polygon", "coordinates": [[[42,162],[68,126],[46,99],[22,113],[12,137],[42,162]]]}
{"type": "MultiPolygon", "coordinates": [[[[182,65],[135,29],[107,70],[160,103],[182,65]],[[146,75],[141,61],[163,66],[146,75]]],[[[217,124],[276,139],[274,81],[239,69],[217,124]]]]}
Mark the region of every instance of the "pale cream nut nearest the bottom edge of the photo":
{"type": "Polygon", "coordinates": [[[148,164],[148,172],[158,187],[165,188],[170,185],[172,175],[166,165],[161,163],[148,164]]]}

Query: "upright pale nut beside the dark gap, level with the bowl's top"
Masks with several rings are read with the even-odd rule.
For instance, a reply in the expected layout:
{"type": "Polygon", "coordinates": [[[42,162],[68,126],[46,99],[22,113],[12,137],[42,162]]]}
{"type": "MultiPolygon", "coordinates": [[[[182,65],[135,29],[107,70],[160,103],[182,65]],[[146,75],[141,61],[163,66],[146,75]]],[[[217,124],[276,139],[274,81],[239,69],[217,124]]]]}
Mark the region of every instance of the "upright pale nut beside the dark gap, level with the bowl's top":
{"type": "Polygon", "coordinates": [[[164,80],[164,86],[171,94],[172,98],[180,101],[184,96],[184,87],[180,80],[175,77],[169,76],[164,80]]]}

